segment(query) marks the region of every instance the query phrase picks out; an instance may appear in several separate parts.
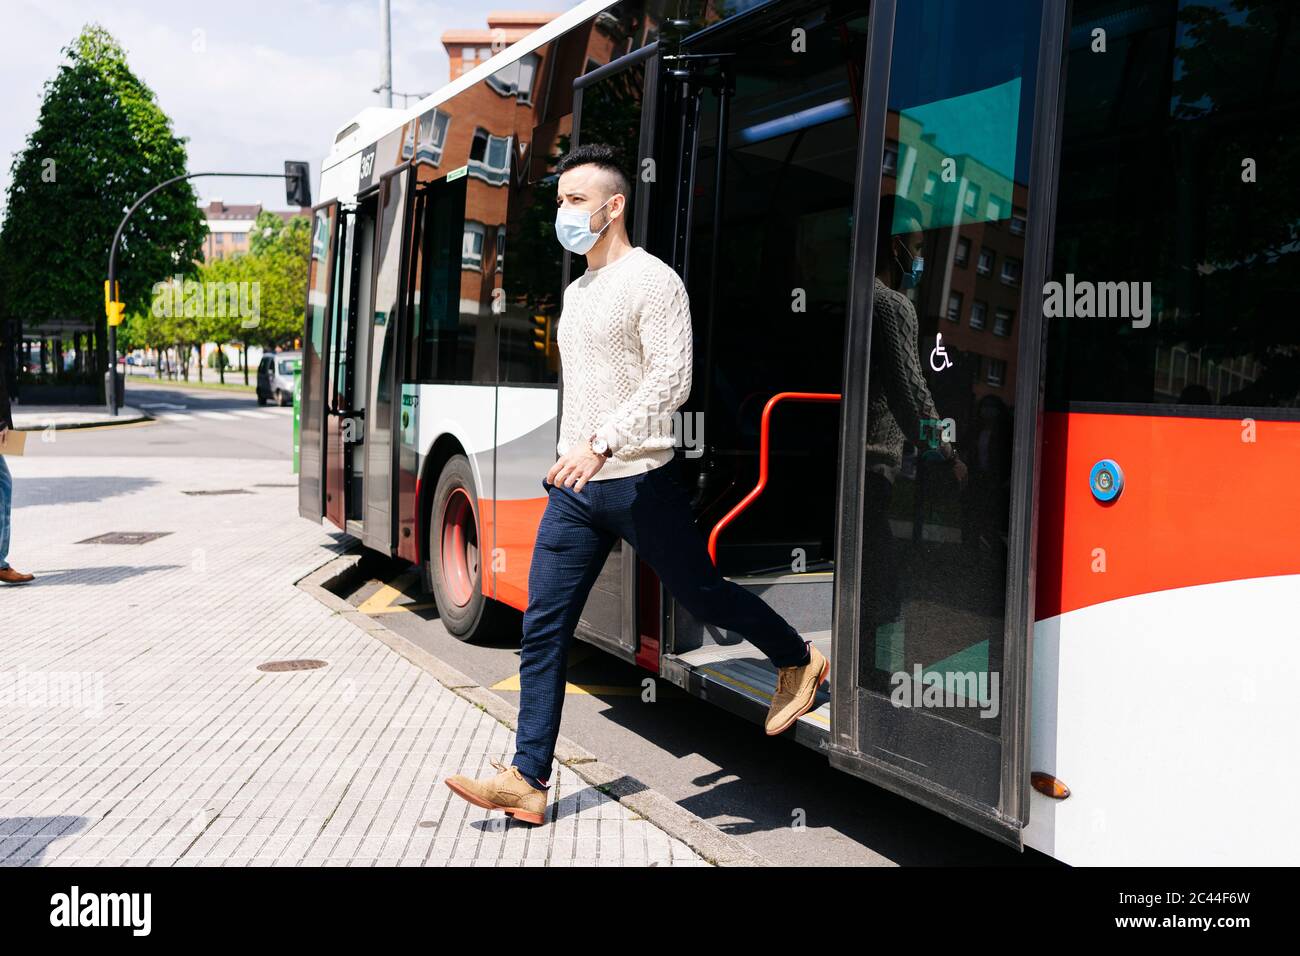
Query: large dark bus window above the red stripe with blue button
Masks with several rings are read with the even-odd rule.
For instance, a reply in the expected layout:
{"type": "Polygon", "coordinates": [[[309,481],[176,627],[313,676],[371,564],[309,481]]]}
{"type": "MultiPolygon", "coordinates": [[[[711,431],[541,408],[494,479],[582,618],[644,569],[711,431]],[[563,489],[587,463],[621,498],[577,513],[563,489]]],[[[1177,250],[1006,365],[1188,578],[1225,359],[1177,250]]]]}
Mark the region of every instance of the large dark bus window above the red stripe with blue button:
{"type": "Polygon", "coordinates": [[[1050,410],[1297,416],[1292,8],[1075,0],[1050,410]]]}

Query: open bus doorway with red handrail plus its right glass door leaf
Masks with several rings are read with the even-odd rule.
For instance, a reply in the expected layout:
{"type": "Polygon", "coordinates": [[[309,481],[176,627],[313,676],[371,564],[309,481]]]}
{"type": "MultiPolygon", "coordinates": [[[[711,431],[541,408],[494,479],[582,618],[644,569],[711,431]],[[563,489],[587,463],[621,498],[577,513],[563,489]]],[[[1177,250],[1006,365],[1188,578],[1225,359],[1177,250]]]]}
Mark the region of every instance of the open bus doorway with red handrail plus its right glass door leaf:
{"type": "MultiPolygon", "coordinates": [[[[690,293],[702,531],[832,661],[794,739],[1017,847],[1063,8],[767,4],[662,40],[650,234],[690,293]]],[[[770,662],[668,619],[664,675],[760,719],[770,662]]]]}

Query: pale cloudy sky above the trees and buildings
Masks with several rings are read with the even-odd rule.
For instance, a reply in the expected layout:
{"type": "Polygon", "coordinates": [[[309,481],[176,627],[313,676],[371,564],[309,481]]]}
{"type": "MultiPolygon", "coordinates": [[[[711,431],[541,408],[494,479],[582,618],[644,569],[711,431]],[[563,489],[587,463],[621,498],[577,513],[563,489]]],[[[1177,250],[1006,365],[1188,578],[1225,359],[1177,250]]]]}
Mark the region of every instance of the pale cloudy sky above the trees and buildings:
{"type": "MultiPolygon", "coordinates": [[[[575,0],[391,0],[393,88],[448,82],[445,30],[486,29],[489,10],[555,10],[575,0]]],[[[381,105],[380,0],[0,0],[0,215],[14,153],[35,129],[43,86],[83,25],[126,49],[173,131],[188,137],[190,172],[282,172],[320,163],[334,133],[381,105]]],[[[415,100],[411,100],[412,103],[415,100]]],[[[403,99],[395,96],[395,107],[403,99]]],[[[277,179],[196,179],[200,199],[285,208],[277,179]]]]}

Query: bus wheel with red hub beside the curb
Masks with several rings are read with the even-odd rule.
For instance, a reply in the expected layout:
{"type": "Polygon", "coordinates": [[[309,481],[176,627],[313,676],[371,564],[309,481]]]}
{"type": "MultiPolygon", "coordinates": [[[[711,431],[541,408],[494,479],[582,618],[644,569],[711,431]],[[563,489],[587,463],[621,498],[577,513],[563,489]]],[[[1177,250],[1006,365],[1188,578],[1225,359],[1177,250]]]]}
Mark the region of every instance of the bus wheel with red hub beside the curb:
{"type": "Polygon", "coordinates": [[[478,496],[469,459],[452,455],[442,468],[429,512],[429,579],[438,617],[465,643],[499,635],[504,609],[482,591],[478,496]]]}

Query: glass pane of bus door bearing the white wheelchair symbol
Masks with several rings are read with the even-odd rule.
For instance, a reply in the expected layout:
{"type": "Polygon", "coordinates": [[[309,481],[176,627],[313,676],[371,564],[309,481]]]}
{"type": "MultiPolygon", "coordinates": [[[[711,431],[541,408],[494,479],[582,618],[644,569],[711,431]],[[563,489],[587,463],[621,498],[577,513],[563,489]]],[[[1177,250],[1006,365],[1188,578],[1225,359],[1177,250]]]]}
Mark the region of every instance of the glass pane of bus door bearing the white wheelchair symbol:
{"type": "Polygon", "coordinates": [[[937,679],[932,713],[967,731],[957,762],[927,749],[935,730],[868,743],[993,805],[1040,16],[1032,0],[898,5],[867,278],[858,684],[919,705],[937,679]]]}

